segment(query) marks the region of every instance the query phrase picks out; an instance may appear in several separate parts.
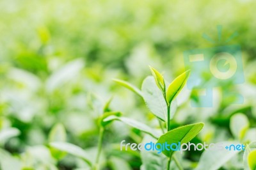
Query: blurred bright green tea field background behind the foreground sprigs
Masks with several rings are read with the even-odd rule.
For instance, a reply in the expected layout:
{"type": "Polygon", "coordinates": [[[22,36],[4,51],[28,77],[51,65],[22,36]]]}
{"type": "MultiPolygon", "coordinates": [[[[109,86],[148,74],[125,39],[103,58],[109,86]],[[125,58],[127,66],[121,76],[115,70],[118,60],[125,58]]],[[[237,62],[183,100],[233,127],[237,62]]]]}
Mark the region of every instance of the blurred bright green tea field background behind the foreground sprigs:
{"type": "MultiPolygon", "coordinates": [[[[1,0],[1,169],[84,169],[86,164],[72,155],[60,160],[51,155],[47,144],[56,123],[65,127],[69,143],[91,155],[97,150],[97,118],[110,97],[113,111],[157,127],[143,100],[112,79],[140,87],[152,65],[170,82],[184,71],[184,51],[218,45],[241,45],[245,82],[237,91],[244,104],[221,101],[216,89],[214,107],[191,108],[188,92],[173,127],[203,121],[196,140],[225,141],[235,138],[230,117],[242,112],[250,121],[246,140],[256,140],[255,8],[252,0],[1,0]],[[223,26],[223,40],[235,31],[239,35],[228,44],[202,38],[206,33],[218,40],[217,25],[223,26]]],[[[140,153],[120,152],[118,144],[123,139],[140,143],[143,135],[120,122],[110,125],[103,169],[140,169],[140,153]]],[[[193,169],[201,153],[186,155],[184,166],[193,169]]],[[[243,169],[239,157],[238,163],[230,162],[223,168],[243,169]]]]}

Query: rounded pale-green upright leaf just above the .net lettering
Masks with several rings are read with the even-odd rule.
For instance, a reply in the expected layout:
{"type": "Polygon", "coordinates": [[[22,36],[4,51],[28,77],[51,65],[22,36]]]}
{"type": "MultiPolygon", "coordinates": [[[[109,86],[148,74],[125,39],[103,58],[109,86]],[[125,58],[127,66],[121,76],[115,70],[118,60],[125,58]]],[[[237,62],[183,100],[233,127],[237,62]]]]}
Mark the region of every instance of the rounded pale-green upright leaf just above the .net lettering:
{"type": "Polygon", "coordinates": [[[230,118],[230,130],[234,137],[239,140],[244,138],[249,126],[248,118],[244,114],[237,113],[230,118]]]}

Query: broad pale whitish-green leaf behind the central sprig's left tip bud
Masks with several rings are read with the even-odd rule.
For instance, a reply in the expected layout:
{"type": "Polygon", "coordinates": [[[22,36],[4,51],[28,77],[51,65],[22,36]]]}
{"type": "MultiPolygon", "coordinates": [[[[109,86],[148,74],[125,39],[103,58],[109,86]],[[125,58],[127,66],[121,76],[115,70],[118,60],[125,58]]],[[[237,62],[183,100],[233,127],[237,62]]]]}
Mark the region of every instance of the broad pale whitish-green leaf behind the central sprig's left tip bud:
{"type": "Polygon", "coordinates": [[[141,91],[143,99],[150,110],[157,118],[167,120],[167,105],[163,98],[163,94],[156,86],[152,76],[146,77],[142,83],[141,91]]]}

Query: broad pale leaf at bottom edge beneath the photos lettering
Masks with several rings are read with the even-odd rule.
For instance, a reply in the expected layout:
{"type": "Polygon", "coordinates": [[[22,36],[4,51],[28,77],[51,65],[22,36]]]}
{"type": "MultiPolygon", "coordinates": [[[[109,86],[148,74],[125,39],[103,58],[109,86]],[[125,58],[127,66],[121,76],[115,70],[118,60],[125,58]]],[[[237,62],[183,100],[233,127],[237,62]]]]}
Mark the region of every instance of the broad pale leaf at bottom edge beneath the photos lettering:
{"type": "Polygon", "coordinates": [[[238,150],[226,150],[225,146],[230,146],[230,144],[239,144],[237,142],[224,141],[221,143],[216,143],[215,145],[218,147],[212,150],[205,150],[198,162],[198,166],[196,170],[217,170],[220,169],[228,160],[239,153],[238,150]],[[221,148],[219,148],[221,147],[221,148]]]}

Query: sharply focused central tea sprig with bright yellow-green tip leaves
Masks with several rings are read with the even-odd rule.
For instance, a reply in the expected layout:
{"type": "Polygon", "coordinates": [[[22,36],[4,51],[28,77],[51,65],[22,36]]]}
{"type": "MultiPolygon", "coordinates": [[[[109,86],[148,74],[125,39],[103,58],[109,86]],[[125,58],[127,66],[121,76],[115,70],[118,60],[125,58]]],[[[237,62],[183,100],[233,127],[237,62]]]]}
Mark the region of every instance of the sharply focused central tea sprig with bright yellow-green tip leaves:
{"type": "MultiPolygon", "coordinates": [[[[159,135],[156,136],[152,134],[152,132],[154,132],[153,130],[149,131],[149,130],[146,130],[146,128],[140,128],[140,126],[138,125],[134,125],[134,124],[132,125],[152,135],[152,137],[157,139],[157,143],[159,144],[163,144],[163,143],[172,144],[172,143],[179,143],[179,142],[180,144],[188,143],[200,132],[200,130],[202,130],[202,128],[204,127],[204,123],[195,123],[195,124],[185,125],[185,126],[171,130],[170,121],[172,120],[172,115],[171,115],[172,102],[175,100],[177,95],[179,95],[180,91],[186,84],[190,71],[188,70],[182,73],[170,85],[166,86],[166,81],[164,80],[163,75],[159,73],[155,68],[152,68],[151,66],[150,66],[150,70],[152,72],[155,84],[158,89],[156,89],[154,86],[152,86],[152,84],[150,84],[150,82],[152,82],[153,77],[147,77],[143,81],[142,91],[140,91],[140,89],[135,88],[134,86],[132,86],[127,82],[120,81],[120,80],[115,80],[115,81],[131,89],[138,95],[140,95],[145,100],[145,103],[147,104],[150,111],[157,117],[157,119],[159,119],[159,124],[161,125],[162,123],[161,121],[163,121],[166,124],[166,132],[164,131],[164,129],[162,129],[163,134],[160,136],[159,135]],[[161,93],[161,96],[159,95],[159,93],[161,93]]],[[[106,120],[111,120],[111,119],[113,119],[113,116],[106,118],[106,120]]],[[[127,121],[122,118],[115,118],[115,119],[124,121],[124,123],[131,125],[131,123],[129,123],[131,122],[131,120],[127,121]]],[[[146,127],[146,125],[143,125],[143,127],[146,127]]],[[[179,169],[182,169],[179,163],[179,160],[177,160],[177,158],[173,154],[174,151],[164,150],[163,153],[168,158],[166,169],[168,170],[170,169],[171,160],[174,160],[177,167],[179,167],[179,169]]],[[[148,164],[148,162],[143,162],[143,164],[148,164]]]]}

